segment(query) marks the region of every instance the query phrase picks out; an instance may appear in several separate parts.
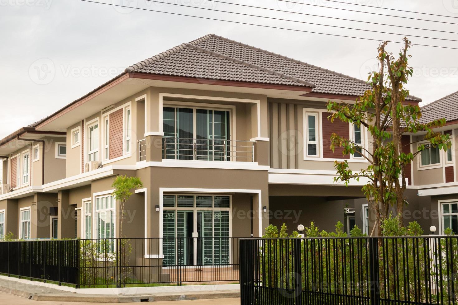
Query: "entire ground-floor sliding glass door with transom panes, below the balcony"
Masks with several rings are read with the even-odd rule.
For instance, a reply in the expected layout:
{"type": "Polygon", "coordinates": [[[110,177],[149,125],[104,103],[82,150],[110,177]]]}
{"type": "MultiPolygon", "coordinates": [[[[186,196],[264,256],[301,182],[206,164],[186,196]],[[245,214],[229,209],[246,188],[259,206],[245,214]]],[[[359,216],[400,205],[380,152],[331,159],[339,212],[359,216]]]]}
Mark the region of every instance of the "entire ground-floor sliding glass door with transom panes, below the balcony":
{"type": "Polygon", "coordinates": [[[230,263],[230,196],[164,195],[164,265],[230,263]]]}

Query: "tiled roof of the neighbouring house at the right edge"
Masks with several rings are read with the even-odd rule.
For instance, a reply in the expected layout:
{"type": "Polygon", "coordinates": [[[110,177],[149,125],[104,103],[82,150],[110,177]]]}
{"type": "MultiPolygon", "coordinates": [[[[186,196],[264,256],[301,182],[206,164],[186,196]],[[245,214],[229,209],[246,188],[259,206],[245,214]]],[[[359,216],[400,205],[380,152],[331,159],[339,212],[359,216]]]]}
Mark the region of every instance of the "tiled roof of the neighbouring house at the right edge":
{"type": "Polygon", "coordinates": [[[440,118],[445,118],[447,122],[458,120],[458,91],[421,107],[421,122],[440,118]]]}

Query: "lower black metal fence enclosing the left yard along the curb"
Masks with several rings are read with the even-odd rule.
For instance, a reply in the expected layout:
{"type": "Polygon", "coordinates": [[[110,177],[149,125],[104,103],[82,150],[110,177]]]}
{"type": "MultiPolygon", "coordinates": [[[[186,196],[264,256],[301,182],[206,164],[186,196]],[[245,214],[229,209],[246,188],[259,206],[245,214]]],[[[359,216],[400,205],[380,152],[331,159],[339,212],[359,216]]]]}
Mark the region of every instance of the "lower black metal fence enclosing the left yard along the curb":
{"type": "Polygon", "coordinates": [[[239,281],[238,238],[0,242],[0,273],[76,288],[239,281]]]}

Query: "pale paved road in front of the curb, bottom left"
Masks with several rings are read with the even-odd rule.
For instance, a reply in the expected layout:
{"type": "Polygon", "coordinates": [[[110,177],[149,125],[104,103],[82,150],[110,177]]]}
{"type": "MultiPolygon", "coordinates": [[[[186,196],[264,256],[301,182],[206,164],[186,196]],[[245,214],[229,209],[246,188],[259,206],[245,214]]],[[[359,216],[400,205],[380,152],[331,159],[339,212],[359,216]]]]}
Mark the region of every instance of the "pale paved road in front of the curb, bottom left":
{"type": "MultiPolygon", "coordinates": [[[[108,304],[108,303],[104,303],[108,304]]],[[[140,303],[123,303],[125,305],[139,305],[140,303]]],[[[215,300],[192,300],[192,301],[168,301],[151,302],[151,305],[239,305],[240,299],[215,299],[215,300]]],[[[27,300],[25,298],[0,292],[0,305],[94,305],[94,303],[79,302],[45,302],[27,300]]]]}

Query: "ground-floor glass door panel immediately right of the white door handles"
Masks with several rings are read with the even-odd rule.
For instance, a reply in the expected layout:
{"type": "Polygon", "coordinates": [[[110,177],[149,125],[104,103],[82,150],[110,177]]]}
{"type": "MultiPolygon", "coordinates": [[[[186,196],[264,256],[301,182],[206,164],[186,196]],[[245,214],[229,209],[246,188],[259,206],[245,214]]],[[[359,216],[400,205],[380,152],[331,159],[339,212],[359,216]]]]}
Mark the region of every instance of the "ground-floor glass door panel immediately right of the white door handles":
{"type": "Polygon", "coordinates": [[[213,265],[213,212],[197,211],[197,265],[213,265]]]}

